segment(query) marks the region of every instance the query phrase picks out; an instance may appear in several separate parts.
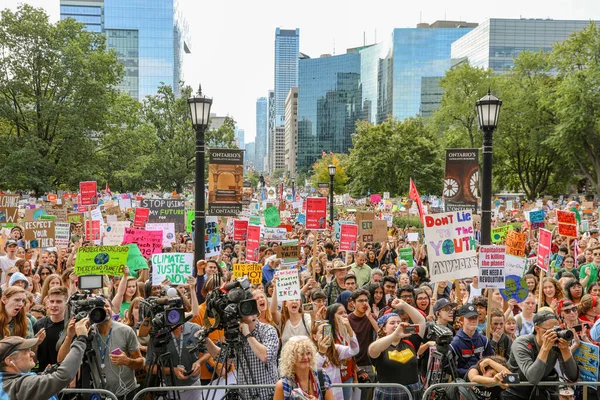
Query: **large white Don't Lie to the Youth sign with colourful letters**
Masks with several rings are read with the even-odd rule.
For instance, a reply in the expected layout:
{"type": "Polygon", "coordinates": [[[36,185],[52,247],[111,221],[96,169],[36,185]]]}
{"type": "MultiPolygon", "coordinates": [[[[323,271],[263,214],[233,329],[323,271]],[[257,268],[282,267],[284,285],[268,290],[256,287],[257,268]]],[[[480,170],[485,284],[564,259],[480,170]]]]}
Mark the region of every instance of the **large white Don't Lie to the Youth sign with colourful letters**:
{"type": "Polygon", "coordinates": [[[424,217],[432,282],[467,278],[479,273],[471,216],[471,211],[454,211],[424,217]]]}

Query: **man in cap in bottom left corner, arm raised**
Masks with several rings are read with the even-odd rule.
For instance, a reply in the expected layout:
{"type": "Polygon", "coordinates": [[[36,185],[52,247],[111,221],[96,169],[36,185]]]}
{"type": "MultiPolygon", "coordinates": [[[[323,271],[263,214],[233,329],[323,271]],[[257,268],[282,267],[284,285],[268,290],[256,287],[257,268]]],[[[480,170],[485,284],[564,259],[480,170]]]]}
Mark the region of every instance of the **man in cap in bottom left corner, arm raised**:
{"type": "Polygon", "coordinates": [[[8,395],[8,398],[56,399],[56,395],[68,387],[77,376],[86,349],[87,324],[87,318],[75,324],[77,338],[73,340],[69,353],[58,369],[50,374],[30,374],[36,365],[35,353],[32,349],[38,344],[37,339],[8,336],[0,340],[2,391],[8,395]]]}

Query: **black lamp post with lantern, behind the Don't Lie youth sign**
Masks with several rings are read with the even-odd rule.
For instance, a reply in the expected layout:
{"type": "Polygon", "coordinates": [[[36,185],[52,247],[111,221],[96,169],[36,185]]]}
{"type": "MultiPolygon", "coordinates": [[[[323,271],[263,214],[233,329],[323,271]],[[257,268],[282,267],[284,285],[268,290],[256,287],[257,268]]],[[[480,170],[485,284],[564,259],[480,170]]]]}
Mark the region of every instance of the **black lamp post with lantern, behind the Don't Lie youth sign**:
{"type": "Polygon", "coordinates": [[[492,244],[492,133],[498,126],[502,100],[488,94],[477,101],[479,128],[483,131],[483,167],[481,190],[481,244],[492,244]]]}

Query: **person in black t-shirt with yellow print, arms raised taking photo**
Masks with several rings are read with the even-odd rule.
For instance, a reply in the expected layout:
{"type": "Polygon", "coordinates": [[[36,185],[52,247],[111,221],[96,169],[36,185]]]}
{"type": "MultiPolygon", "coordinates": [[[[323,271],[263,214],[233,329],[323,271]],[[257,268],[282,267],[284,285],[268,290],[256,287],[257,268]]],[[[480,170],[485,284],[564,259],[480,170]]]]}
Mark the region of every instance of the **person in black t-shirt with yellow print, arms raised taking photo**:
{"type": "MultiPolygon", "coordinates": [[[[377,371],[377,382],[399,383],[406,386],[413,399],[422,397],[423,385],[419,379],[417,351],[425,333],[425,317],[401,299],[392,302],[394,309],[406,312],[418,326],[417,332],[405,332],[411,325],[402,322],[394,312],[377,320],[378,339],[369,346],[369,357],[377,371]]],[[[405,399],[406,393],[398,388],[375,388],[374,400],[405,399]]]]}

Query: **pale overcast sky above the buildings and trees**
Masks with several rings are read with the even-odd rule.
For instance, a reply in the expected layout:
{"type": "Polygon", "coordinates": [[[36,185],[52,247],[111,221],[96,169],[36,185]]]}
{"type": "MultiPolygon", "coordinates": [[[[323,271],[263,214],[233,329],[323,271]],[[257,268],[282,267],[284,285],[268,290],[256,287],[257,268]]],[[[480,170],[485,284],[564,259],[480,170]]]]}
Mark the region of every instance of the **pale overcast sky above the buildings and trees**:
{"type": "MultiPolygon", "coordinates": [[[[166,1],[166,0],[165,0],[166,1]]],[[[23,0],[0,0],[14,8],[23,0]]],[[[59,18],[59,0],[28,0],[59,18]]],[[[346,48],[388,37],[393,28],[420,21],[487,18],[600,19],[599,0],[179,0],[192,37],[184,59],[184,79],[213,97],[213,112],[230,115],[246,132],[256,133],[255,103],[273,88],[275,28],[300,28],[300,51],[311,57],[342,54],[346,48]]]]}

